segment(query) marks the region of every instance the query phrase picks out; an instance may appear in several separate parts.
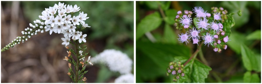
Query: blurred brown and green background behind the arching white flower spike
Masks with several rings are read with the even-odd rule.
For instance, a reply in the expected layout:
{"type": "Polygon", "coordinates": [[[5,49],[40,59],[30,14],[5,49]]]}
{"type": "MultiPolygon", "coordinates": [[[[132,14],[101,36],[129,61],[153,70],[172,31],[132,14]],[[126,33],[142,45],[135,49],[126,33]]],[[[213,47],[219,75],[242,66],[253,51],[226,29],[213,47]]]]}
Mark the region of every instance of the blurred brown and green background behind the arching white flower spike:
{"type": "MultiPolygon", "coordinates": [[[[41,12],[58,1],[1,1],[1,48],[9,44],[29,23],[39,19],[41,12]]],[[[87,34],[87,51],[94,57],[104,49],[116,49],[134,60],[133,1],[61,1],[80,7],[87,13],[85,22],[91,26],[87,34]]],[[[80,12],[79,11],[79,12],[80,12]]],[[[74,15],[78,15],[76,12],[74,15]]],[[[67,49],[62,45],[63,34],[38,33],[24,43],[1,52],[1,83],[70,83],[67,75],[67,49]]],[[[87,57],[86,57],[87,60],[87,57]]],[[[87,83],[113,83],[119,74],[105,66],[88,66],[87,83]]],[[[133,71],[132,71],[133,72],[133,71]]]]}

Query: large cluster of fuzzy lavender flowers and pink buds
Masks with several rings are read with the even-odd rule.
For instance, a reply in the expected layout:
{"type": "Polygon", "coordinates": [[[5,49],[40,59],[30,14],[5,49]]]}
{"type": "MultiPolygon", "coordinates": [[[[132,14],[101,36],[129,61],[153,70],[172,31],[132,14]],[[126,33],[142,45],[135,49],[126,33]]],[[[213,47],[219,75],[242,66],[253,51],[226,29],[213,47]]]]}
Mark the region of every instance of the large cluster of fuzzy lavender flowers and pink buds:
{"type": "Polygon", "coordinates": [[[222,46],[224,49],[227,48],[227,45],[224,43],[229,41],[228,36],[225,35],[225,31],[223,30],[222,22],[227,14],[227,11],[224,10],[222,7],[219,9],[217,7],[211,8],[213,11],[208,13],[201,7],[194,7],[192,10],[195,14],[196,22],[194,25],[192,24],[192,11],[185,10],[184,14],[181,11],[178,11],[176,15],[176,19],[174,26],[177,29],[185,29],[185,33],[181,33],[178,35],[178,41],[186,44],[188,40],[192,40],[193,44],[199,44],[202,38],[202,43],[209,46],[214,46],[215,52],[221,52],[221,49],[218,45],[222,46]],[[212,16],[211,16],[212,15],[212,16]],[[181,27],[183,28],[180,28],[181,27]],[[224,42],[222,45],[221,43],[224,42]]]}

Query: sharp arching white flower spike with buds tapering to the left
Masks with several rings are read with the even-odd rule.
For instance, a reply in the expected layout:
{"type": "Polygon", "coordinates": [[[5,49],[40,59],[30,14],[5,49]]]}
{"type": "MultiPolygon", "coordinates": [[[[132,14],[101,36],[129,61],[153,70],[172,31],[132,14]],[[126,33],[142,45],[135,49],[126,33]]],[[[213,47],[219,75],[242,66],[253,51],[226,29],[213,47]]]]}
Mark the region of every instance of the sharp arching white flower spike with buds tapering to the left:
{"type": "Polygon", "coordinates": [[[44,31],[49,31],[51,35],[54,33],[63,33],[65,38],[61,38],[67,46],[70,42],[70,38],[72,40],[78,40],[79,43],[86,42],[84,39],[87,35],[83,34],[80,30],[84,29],[88,26],[85,24],[85,20],[88,19],[87,14],[84,12],[79,12],[78,16],[73,16],[75,12],[78,12],[80,7],[77,5],[66,5],[64,3],[55,4],[53,7],[45,8],[42,12],[42,15],[39,16],[40,20],[33,21],[34,24],[29,24],[31,28],[24,29],[21,33],[24,36],[18,36],[12,43],[6,45],[1,51],[5,51],[10,47],[15,46],[16,44],[20,44],[20,42],[24,42],[27,38],[31,38],[31,36],[36,35],[37,33],[44,31]],[[79,28],[79,25],[82,25],[79,28]]]}

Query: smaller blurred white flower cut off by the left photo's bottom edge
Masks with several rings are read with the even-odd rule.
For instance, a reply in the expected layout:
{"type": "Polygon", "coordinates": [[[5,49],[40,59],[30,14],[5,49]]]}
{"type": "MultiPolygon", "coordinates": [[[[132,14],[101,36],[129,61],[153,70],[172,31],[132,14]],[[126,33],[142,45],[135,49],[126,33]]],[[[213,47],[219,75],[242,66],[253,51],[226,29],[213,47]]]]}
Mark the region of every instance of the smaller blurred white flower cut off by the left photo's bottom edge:
{"type": "Polygon", "coordinates": [[[134,83],[134,75],[131,73],[121,75],[116,78],[115,83],[134,83]]]}

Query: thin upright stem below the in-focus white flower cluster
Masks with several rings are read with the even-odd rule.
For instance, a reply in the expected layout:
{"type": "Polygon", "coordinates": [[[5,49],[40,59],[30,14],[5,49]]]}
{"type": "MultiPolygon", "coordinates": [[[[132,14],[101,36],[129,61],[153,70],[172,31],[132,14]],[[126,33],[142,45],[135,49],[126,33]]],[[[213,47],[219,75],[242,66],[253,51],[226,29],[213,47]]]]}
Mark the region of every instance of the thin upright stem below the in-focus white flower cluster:
{"type": "Polygon", "coordinates": [[[79,59],[78,59],[78,43],[77,41],[75,41],[75,50],[76,50],[76,54],[77,54],[77,64],[75,66],[75,83],[78,83],[78,70],[79,70],[79,59]]]}

